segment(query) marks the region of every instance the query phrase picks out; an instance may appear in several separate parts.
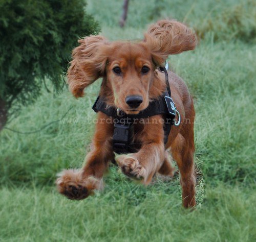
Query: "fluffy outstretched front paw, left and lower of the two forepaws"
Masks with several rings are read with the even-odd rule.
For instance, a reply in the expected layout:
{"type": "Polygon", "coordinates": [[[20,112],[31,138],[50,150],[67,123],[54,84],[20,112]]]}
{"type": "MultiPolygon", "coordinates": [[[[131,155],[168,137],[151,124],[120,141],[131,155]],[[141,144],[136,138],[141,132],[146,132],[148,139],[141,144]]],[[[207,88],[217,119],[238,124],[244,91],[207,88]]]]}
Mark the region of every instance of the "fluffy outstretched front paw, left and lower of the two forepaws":
{"type": "Polygon", "coordinates": [[[79,170],[65,170],[58,176],[56,180],[58,191],[72,200],[85,199],[102,186],[102,181],[93,176],[82,179],[79,170]]]}

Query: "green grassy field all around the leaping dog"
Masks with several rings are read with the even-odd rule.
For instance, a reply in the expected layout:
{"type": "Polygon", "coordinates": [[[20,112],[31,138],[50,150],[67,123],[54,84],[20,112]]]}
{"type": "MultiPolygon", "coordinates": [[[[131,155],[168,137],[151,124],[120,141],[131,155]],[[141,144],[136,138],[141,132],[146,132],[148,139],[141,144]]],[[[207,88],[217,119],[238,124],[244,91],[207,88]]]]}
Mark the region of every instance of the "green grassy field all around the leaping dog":
{"type": "Polygon", "coordinates": [[[148,23],[176,18],[201,37],[194,52],[168,59],[196,106],[198,207],[181,207],[179,178],[143,187],[115,166],[105,189],[84,201],[58,195],[63,168],[81,166],[94,132],[100,80],[75,100],[42,91],[0,133],[0,241],[256,241],[256,4],[252,1],[88,1],[111,40],[138,39],[148,23]],[[70,110],[70,111],[69,111],[70,110]]]}

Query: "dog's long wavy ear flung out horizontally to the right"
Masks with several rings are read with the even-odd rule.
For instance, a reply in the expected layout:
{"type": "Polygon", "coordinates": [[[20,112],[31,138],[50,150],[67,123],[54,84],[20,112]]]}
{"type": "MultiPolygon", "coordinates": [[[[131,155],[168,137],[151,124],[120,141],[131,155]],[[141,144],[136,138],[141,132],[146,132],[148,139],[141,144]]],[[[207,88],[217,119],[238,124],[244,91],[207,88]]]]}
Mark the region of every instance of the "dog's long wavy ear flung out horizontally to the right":
{"type": "Polygon", "coordinates": [[[163,64],[168,55],[194,50],[197,45],[194,31],[176,20],[158,21],[148,28],[144,41],[156,65],[163,64]]]}

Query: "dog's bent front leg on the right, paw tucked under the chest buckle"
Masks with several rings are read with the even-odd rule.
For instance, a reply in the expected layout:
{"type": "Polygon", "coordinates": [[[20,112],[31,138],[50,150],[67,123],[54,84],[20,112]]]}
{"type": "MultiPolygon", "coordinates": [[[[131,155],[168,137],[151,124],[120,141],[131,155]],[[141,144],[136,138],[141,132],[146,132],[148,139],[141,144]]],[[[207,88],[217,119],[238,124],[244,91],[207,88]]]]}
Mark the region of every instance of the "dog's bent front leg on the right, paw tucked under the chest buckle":
{"type": "Polygon", "coordinates": [[[148,184],[165,159],[164,132],[163,119],[160,115],[144,120],[144,129],[139,134],[141,149],[134,154],[121,155],[116,160],[125,175],[148,184]]]}

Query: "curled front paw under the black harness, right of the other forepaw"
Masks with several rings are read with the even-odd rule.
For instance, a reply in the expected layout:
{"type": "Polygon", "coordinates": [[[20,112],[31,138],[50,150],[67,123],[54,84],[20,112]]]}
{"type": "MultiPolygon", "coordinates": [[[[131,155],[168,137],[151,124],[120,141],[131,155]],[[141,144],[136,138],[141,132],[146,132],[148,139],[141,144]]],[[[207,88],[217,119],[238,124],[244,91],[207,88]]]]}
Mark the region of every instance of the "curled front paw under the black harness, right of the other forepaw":
{"type": "Polygon", "coordinates": [[[121,155],[116,161],[126,176],[135,178],[136,180],[146,179],[146,170],[135,157],[121,155]]]}

